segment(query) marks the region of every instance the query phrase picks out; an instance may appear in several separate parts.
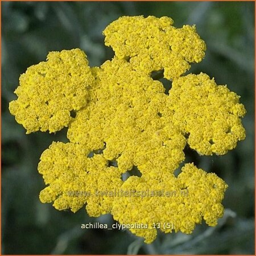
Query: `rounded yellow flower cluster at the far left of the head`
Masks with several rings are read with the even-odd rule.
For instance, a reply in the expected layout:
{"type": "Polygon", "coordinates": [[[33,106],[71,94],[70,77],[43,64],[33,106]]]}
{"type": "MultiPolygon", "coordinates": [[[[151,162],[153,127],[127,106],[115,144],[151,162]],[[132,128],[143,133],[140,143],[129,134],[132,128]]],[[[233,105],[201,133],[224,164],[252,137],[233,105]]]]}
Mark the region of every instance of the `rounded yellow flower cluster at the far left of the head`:
{"type": "Polygon", "coordinates": [[[72,110],[86,105],[93,82],[83,51],[49,52],[46,62],[32,65],[20,76],[15,90],[18,99],[10,102],[10,113],[27,134],[54,133],[68,126],[72,110]]]}

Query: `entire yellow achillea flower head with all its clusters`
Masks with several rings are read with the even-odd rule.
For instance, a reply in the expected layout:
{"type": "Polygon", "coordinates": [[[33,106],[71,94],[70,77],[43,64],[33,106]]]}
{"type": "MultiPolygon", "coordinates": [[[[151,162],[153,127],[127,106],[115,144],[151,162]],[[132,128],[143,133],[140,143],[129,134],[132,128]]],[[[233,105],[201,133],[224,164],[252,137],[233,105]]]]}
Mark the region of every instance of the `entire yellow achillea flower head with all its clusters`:
{"type": "Polygon", "coordinates": [[[89,216],[112,213],[121,224],[145,224],[130,230],[147,243],[156,228],[190,234],[203,219],[217,225],[228,185],[192,163],[177,177],[174,171],[186,144],[200,155],[235,148],[245,139],[246,111],[236,93],[208,75],[181,76],[206,47],[195,26],[172,24],[167,17],[123,16],[104,30],[115,56],[100,67],[90,68],[85,53],[72,49],[50,52],[20,76],[10,112],[27,133],[68,126],[69,143],[53,142],[40,158],[48,185],[42,203],[72,212],[86,205],[89,216]],[[160,70],[172,80],[168,93],[151,78],[160,70]],[[134,166],[141,177],[124,180],[134,166]]]}

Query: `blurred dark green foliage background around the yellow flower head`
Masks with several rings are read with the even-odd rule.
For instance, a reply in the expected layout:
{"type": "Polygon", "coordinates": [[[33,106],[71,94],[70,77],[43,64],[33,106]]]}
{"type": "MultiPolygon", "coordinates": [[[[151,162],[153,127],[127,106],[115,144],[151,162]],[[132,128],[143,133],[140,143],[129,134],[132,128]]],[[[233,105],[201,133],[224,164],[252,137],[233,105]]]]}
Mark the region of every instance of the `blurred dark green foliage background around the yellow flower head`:
{"type": "Polygon", "coordinates": [[[126,253],[254,254],[254,2],[2,2],[2,254],[126,253]],[[52,141],[67,141],[67,130],[25,135],[8,110],[19,75],[49,51],[79,47],[91,66],[111,59],[102,31],[122,15],[171,16],[176,27],[196,24],[208,49],[189,72],[227,84],[246,106],[247,137],[235,150],[199,156],[186,149],[187,162],[229,184],[216,228],[203,224],[192,235],[159,234],[146,245],[127,231],[81,229],[89,222],[113,223],[109,214],[59,212],[38,199],[44,188],[40,155],[52,141]]]}

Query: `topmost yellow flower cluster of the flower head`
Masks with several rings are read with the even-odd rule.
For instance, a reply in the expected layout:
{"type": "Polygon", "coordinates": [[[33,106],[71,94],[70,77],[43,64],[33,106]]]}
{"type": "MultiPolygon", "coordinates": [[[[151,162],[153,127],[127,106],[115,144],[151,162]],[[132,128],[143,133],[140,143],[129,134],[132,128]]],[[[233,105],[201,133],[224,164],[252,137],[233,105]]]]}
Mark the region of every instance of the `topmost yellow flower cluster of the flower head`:
{"type": "Polygon", "coordinates": [[[123,16],[104,30],[105,44],[119,59],[129,60],[136,71],[148,75],[164,69],[164,77],[173,79],[183,75],[189,63],[199,63],[206,49],[195,26],[175,28],[173,23],[166,16],[123,16]]]}

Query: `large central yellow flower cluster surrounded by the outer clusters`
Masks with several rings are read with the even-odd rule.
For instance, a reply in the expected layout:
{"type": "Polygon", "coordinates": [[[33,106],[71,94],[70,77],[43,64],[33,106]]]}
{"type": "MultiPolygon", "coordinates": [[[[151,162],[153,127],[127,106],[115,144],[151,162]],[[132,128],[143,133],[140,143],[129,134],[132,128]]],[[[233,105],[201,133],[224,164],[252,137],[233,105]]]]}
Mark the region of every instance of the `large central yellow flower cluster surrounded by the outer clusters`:
{"type": "Polygon", "coordinates": [[[186,140],[172,124],[163,84],[139,75],[116,57],[94,68],[93,75],[92,101],[77,113],[68,139],[89,150],[105,144],[104,157],[117,160],[122,172],[133,166],[153,176],[174,172],[184,160],[186,140]]]}

